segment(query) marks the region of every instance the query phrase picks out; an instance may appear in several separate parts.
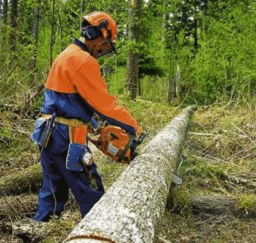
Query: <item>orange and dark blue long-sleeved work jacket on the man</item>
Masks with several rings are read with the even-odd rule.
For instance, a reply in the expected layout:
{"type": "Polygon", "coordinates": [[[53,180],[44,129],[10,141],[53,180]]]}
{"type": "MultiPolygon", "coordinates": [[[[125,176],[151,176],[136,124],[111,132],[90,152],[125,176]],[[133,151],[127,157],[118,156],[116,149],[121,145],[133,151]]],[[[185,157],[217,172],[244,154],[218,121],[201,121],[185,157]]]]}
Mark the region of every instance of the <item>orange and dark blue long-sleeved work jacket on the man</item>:
{"type": "Polygon", "coordinates": [[[116,102],[107,91],[96,59],[73,43],[53,62],[45,84],[42,112],[85,122],[96,113],[126,132],[140,135],[141,127],[116,102]]]}

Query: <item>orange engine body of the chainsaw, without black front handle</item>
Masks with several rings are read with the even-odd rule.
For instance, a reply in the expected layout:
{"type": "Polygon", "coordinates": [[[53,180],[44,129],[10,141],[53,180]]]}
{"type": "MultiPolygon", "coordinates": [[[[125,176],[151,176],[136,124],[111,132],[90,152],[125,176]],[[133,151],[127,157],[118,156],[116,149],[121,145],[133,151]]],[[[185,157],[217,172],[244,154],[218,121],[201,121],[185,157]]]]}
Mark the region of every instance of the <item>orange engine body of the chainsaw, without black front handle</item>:
{"type": "MultiPolygon", "coordinates": [[[[93,133],[88,130],[89,133],[93,133]]],[[[131,149],[127,148],[131,135],[125,132],[120,127],[114,125],[107,125],[106,127],[99,126],[96,130],[99,135],[94,139],[92,136],[88,136],[89,141],[95,144],[95,146],[114,160],[121,163],[129,163],[131,158],[131,149]],[[124,151],[126,150],[125,154],[124,151]]]]}

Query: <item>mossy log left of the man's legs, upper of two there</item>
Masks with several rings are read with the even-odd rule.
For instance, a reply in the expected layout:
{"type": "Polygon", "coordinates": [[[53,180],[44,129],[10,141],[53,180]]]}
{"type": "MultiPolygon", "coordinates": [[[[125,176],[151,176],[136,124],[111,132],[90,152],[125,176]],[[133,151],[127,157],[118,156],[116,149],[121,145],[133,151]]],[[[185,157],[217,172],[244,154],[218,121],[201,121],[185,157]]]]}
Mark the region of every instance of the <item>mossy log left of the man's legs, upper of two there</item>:
{"type": "Polygon", "coordinates": [[[22,171],[0,178],[0,197],[6,195],[19,195],[24,192],[36,192],[42,182],[42,169],[40,163],[29,166],[22,171]]]}

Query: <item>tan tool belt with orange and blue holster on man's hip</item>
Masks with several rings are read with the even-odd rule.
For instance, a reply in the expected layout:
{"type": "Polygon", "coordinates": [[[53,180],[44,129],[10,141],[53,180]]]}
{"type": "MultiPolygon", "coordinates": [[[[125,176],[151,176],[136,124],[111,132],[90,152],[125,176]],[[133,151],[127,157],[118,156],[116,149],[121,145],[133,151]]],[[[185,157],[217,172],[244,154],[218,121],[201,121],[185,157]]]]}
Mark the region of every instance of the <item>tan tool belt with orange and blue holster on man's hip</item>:
{"type": "MultiPolygon", "coordinates": [[[[51,119],[51,114],[44,114],[44,119],[51,119]]],[[[93,156],[87,147],[88,124],[77,119],[67,119],[56,117],[55,122],[68,125],[69,127],[69,149],[66,159],[66,168],[72,171],[85,170],[90,187],[93,190],[98,189],[95,178],[90,171],[90,165],[93,163],[93,156]]]]}

